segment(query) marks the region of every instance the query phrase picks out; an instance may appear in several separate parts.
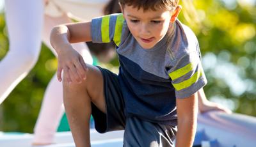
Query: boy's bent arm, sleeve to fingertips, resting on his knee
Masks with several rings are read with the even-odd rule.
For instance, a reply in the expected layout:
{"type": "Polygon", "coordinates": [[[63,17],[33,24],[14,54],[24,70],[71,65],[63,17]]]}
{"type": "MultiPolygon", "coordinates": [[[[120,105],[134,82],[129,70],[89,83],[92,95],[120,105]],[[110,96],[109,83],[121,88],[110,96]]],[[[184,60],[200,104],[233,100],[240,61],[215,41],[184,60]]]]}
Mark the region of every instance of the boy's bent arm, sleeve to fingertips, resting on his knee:
{"type": "Polygon", "coordinates": [[[86,79],[86,64],[82,56],[72,48],[70,43],[88,42],[91,37],[91,22],[63,24],[52,29],[50,41],[58,54],[58,80],[61,81],[61,72],[67,82],[81,82],[86,79]]]}

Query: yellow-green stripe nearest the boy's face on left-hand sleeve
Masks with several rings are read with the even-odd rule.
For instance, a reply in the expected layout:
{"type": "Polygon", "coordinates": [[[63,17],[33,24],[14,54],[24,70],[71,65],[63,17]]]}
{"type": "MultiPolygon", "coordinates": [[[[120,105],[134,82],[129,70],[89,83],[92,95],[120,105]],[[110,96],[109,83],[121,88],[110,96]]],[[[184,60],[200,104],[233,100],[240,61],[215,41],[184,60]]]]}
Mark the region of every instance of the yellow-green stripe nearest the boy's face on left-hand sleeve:
{"type": "Polygon", "coordinates": [[[123,24],[124,24],[124,17],[122,14],[119,14],[116,18],[115,34],[113,38],[116,46],[119,46],[121,42],[123,24]]]}

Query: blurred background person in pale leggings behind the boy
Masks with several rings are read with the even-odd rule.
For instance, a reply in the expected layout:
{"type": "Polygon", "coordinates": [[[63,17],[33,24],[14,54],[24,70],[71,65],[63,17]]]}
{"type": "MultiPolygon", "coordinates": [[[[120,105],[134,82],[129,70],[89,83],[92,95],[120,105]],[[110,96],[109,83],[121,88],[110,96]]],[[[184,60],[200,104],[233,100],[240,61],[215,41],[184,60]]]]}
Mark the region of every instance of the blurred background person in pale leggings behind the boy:
{"type": "MultiPolygon", "coordinates": [[[[90,20],[92,17],[103,15],[103,8],[106,4],[114,6],[113,2],[115,1],[5,1],[10,48],[0,62],[0,81],[3,83],[0,85],[0,104],[35,66],[40,53],[41,41],[43,40],[52,50],[49,43],[52,27],[72,22],[72,19],[90,20]],[[79,13],[83,13],[83,17],[79,17],[81,16],[79,13]]],[[[110,10],[104,12],[106,11],[110,10]]],[[[92,55],[85,43],[75,43],[72,46],[83,56],[86,63],[93,63],[92,55]]],[[[104,46],[100,47],[104,48],[104,46]]],[[[113,58],[111,45],[105,45],[105,48],[105,50],[100,49],[94,52],[95,56],[99,56],[100,61],[109,61],[113,58]],[[107,54],[107,58],[100,58],[101,54],[107,54]]],[[[54,50],[52,52],[56,55],[54,50]]],[[[54,75],[45,91],[35,126],[34,144],[52,143],[54,132],[63,114],[62,104],[62,86],[54,75]]]]}

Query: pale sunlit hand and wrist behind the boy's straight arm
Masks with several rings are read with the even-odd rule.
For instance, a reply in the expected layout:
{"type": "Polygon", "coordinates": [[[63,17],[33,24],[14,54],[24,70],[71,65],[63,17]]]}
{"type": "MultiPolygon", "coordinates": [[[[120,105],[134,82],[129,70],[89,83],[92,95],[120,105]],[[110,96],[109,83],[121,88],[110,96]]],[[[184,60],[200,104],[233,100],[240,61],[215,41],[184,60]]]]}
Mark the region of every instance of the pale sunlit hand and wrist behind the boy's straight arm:
{"type": "Polygon", "coordinates": [[[207,100],[207,98],[205,97],[203,88],[201,88],[198,91],[198,108],[201,113],[212,111],[212,110],[223,111],[223,112],[227,112],[228,114],[232,113],[232,111],[230,111],[230,109],[228,109],[227,107],[224,107],[223,105],[210,102],[209,100],[207,100]]]}

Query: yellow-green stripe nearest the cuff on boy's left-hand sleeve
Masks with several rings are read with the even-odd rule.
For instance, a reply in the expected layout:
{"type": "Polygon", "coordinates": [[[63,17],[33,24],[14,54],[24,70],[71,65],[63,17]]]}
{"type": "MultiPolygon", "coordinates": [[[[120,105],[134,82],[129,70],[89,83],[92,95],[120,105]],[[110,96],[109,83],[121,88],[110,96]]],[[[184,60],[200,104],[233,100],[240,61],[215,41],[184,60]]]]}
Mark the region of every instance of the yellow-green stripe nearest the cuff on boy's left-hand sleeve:
{"type": "Polygon", "coordinates": [[[110,42],[109,40],[109,19],[110,16],[107,15],[105,17],[102,17],[101,21],[101,38],[103,43],[110,42]]]}

